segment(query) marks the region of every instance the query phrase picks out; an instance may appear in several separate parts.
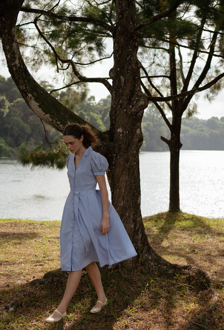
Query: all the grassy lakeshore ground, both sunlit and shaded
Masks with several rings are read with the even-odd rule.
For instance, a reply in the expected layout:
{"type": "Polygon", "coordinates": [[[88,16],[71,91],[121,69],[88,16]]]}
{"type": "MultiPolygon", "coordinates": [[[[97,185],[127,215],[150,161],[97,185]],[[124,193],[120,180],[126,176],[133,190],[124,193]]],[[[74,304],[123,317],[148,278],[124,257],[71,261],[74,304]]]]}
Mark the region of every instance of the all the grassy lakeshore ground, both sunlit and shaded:
{"type": "MultiPolygon", "coordinates": [[[[208,219],[184,213],[161,213],[144,218],[149,243],[172,263],[195,264],[224,278],[224,219],[208,219]]],[[[90,314],[96,295],[86,274],[71,300],[68,316],[56,324],[44,318],[58,305],[66,281],[51,281],[39,287],[23,284],[60,267],[59,221],[0,220],[0,304],[17,297],[16,312],[2,313],[0,329],[153,329],[181,330],[210,301],[209,288],[194,274],[167,275],[125,267],[105,272],[102,282],[109,305],[90,314]]],[[[224,290],[214,283],[220,299],[205,323],[209,329],[224,329],[224,290]]],[[[201,327],[192,329],[201,330],[201,327]]]]}

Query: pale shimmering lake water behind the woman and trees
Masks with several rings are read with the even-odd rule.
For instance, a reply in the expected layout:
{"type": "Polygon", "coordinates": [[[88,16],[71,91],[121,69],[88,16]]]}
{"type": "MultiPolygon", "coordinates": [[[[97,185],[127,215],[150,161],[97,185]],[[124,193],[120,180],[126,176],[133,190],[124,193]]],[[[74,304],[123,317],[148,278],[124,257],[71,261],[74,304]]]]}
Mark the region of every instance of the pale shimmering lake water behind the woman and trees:
{"type": "MultiPolygon", "coordinates": [[[[142,152],[139,159],[143,216],[167,211],[170,153],[142,152]]],[[[60,220],[70,190],[66,172],[30,170],[16,160],[0,159],[0,217],[60,220]]],[[[180,151],[183,212],[224,217],[223,186],[224,151],[180,151]]]]}

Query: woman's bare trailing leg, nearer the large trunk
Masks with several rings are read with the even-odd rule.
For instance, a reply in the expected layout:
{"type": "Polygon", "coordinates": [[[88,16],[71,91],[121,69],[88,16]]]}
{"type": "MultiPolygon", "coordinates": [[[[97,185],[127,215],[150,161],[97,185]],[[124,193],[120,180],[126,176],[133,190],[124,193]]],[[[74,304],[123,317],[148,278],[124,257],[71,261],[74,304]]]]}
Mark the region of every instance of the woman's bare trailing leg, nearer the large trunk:
{"type": "MultiPolygon", "coordinates": [[[[99,268],[97,267],[97,264],[95,262],[91,262],[91,264],[86,266],[85,269],[96,290],[97,298],[98,298],[97,300],[100,300],[104,303],[106,300],[106,296],[104,293],[104,288],[103,288],[103,285],[101,282],[101,275],[100,275],[99,268]]],[[[93,308],[99,308],[101,306],[102,306],[102,304],[97,303],[93,308]]]]}

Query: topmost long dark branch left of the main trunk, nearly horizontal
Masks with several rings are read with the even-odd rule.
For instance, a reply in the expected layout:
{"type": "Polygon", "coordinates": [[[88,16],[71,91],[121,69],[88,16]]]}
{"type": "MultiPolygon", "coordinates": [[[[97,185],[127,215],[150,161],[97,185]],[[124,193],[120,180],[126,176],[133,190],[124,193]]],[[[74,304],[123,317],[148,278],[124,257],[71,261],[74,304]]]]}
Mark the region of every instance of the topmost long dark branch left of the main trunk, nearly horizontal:
{"type": "Polygon", "coordinates": [[[101,21],[101,20],[95,19],[95,18],[78,17],[78,16],[63,16],[63,15],[58,15],[58,14],[54,14],[54,13],[48,12],[46,10],[40,10],[40,9],[34,9],[34,8],[26,8],[26,7],[22,7],[20,11],[25,12],[25,13],[41,14],[41,15],[45,15],[45,16],[49,16],[49,17],[54,17],[54,18],[57,18],[57,19],[61,19],[61,20],[64,20],[64,21],[69,21],[69,22],[86,22],[86,23],[92,23],[92,24],[96,24],[98,26],[102,26],[106,30],[110,31],[112,34],[113,34],[114,30],[115,30],[115,27],[114,26],[111,26],[111,25],[105,23],[104,21],[101,21]]]}

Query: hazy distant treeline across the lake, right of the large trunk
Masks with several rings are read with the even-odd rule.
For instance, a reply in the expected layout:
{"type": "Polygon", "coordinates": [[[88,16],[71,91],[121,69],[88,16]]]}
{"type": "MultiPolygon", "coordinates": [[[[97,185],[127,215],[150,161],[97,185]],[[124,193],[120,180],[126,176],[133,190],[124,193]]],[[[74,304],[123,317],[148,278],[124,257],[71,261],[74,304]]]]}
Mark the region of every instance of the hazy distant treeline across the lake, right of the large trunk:
{"type": "MultiPolygon", "coordinates": [[[[168,118],[171,122],[171,118],[168,118]]],[[[170,131],[163,118],[154,106],[148,107],[142,121],[144,143],[141,150],[169,150],[167,144],[160,139],[170,139],[170,131]]],[[[224,150],[224,117],[220,120],[212,117],[208,120],[182,118],[180,141],[185,150],[224,150]]]]}

